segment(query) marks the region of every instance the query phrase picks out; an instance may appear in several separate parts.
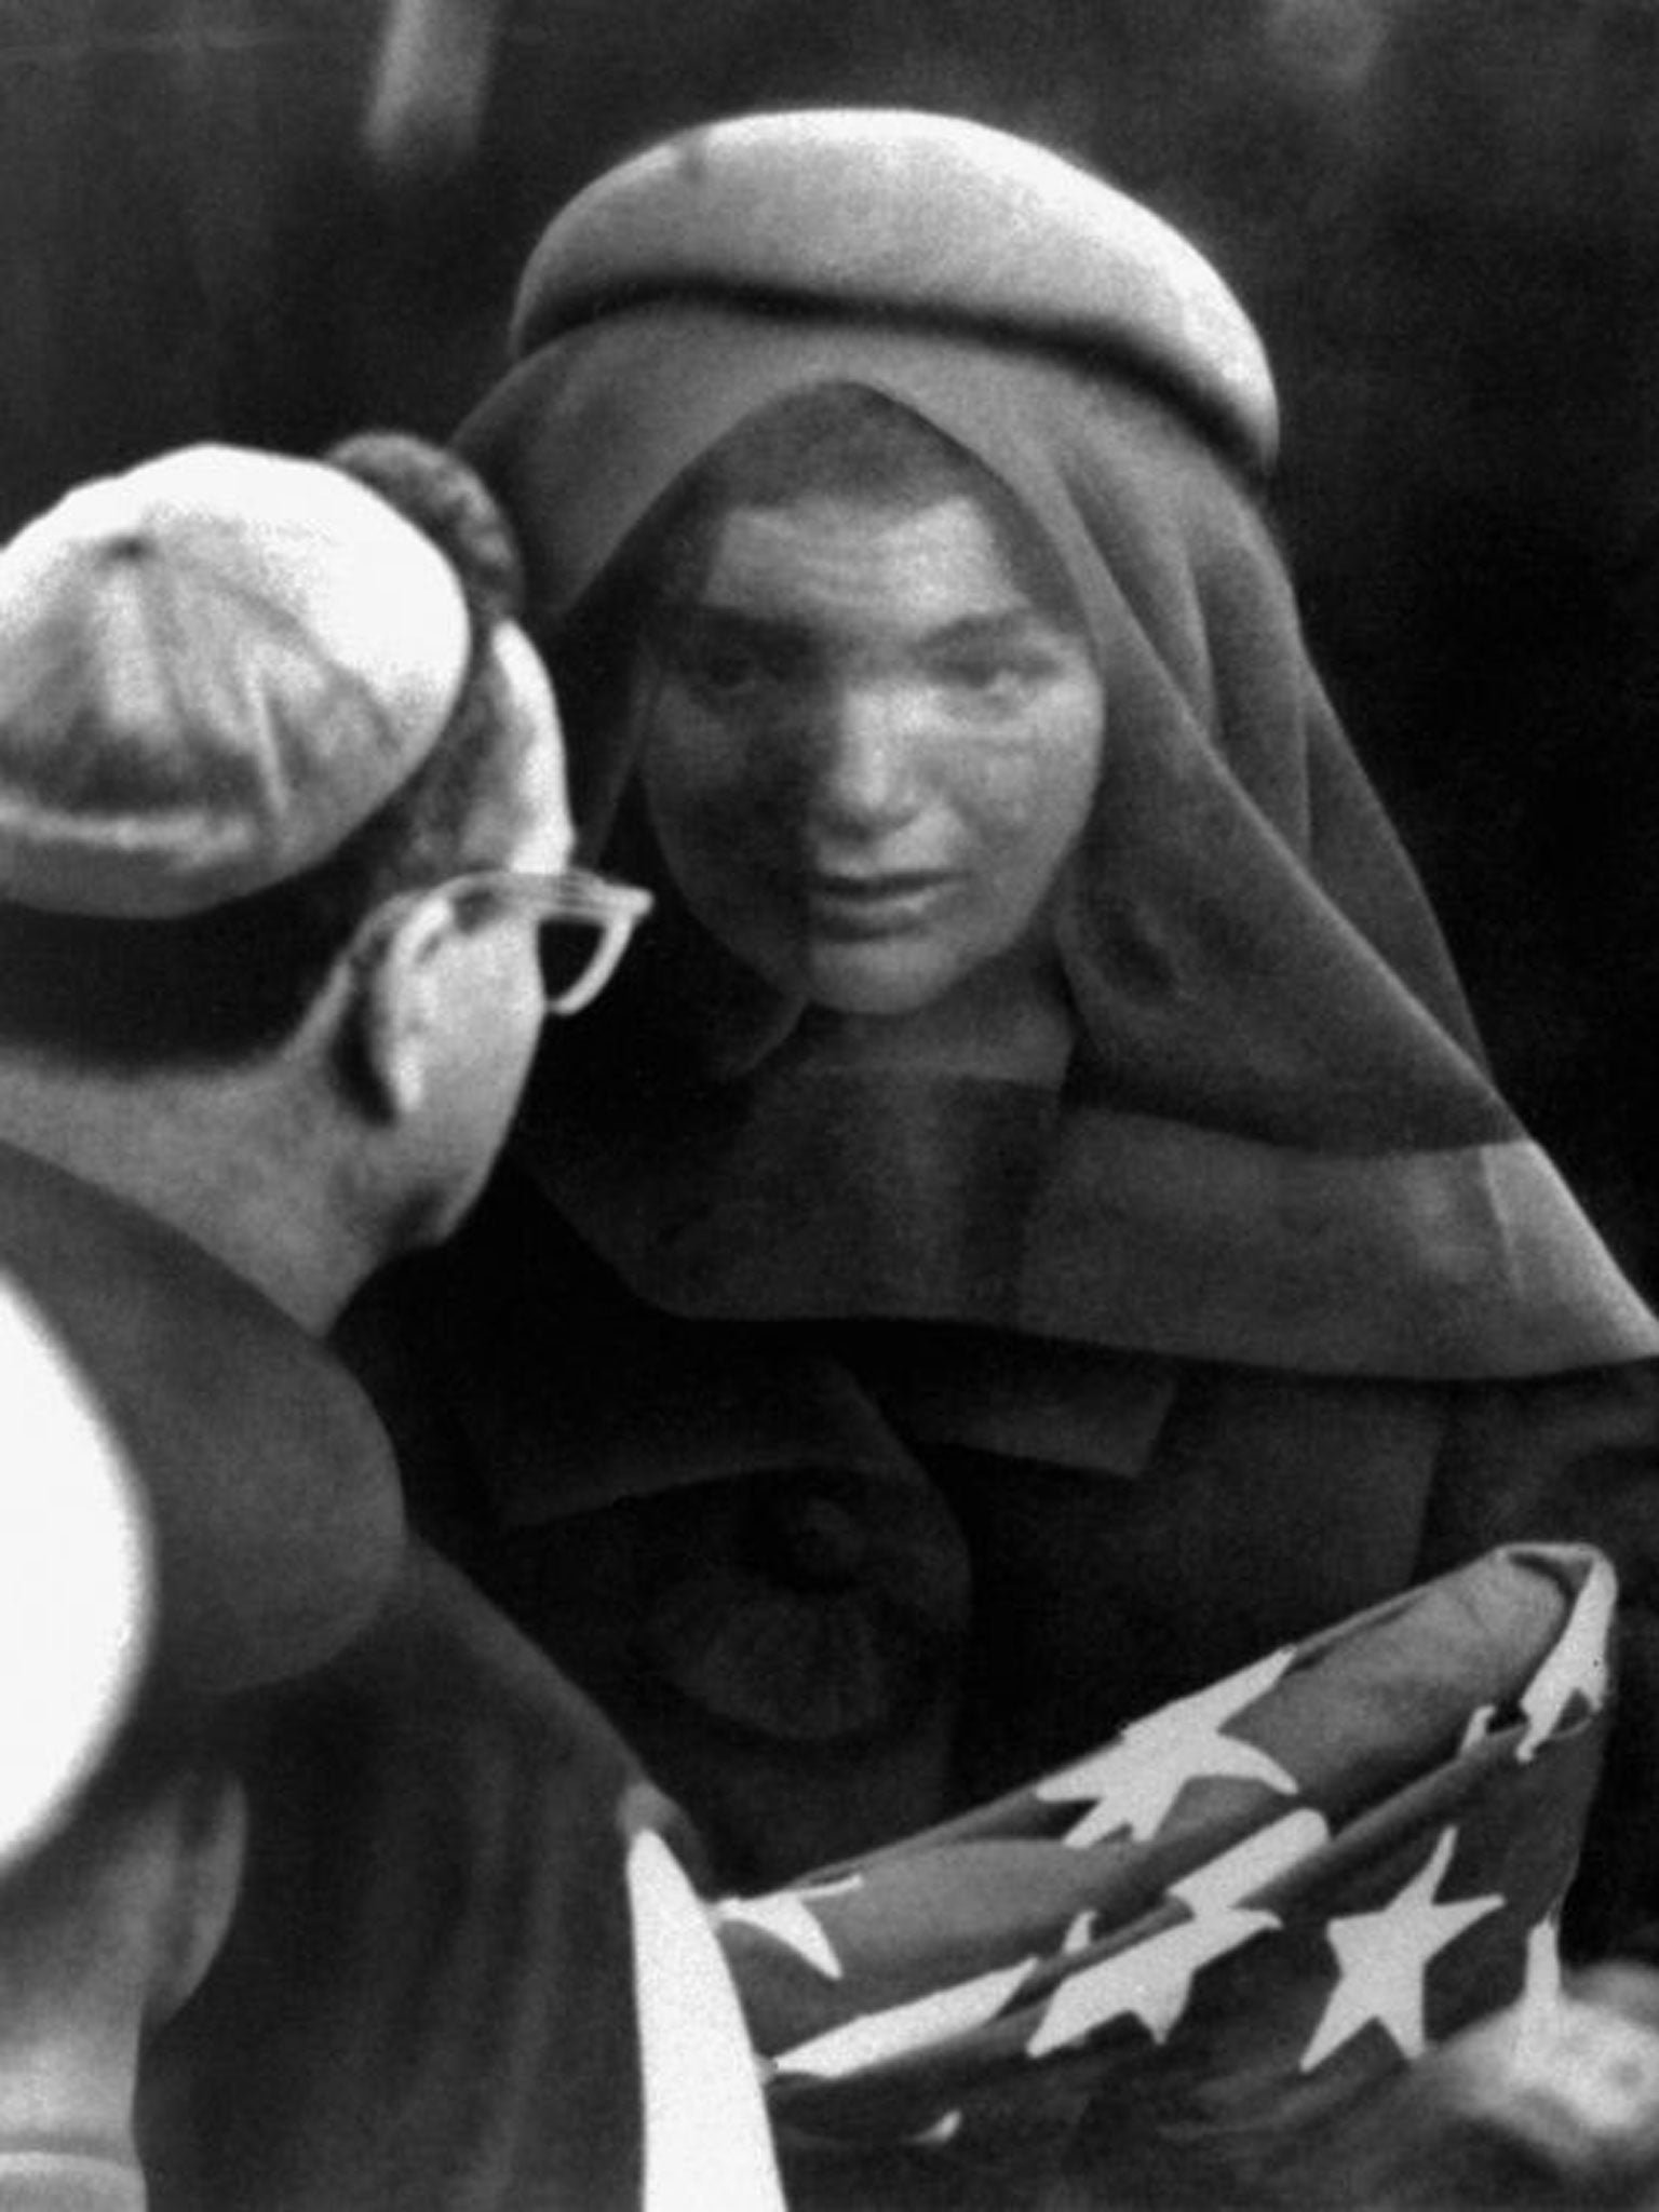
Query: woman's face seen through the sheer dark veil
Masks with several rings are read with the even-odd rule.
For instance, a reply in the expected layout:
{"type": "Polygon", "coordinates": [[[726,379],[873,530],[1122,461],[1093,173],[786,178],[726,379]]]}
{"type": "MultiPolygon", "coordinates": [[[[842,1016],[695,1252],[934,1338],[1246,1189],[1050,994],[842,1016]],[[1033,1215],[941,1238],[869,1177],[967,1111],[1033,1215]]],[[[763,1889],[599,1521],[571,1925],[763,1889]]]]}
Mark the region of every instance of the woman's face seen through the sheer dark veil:
{"type": "Polygon", "coordinates": [[[971,493],[732,507],[650,624],[668,869],[787,993],[909,1013],[1018,947],[1095,792],[1104,697],[971,493]]]}

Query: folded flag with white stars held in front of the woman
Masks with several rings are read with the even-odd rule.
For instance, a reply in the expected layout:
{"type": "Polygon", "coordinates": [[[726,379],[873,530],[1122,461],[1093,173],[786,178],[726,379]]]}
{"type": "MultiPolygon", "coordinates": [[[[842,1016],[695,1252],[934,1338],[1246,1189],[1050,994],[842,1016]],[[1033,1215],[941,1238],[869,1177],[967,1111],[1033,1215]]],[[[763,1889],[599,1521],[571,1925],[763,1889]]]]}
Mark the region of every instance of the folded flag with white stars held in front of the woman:
{"type": "Polygon", "coordinates": [[[1613,1604],[1593,1551],[1489,1553],[719,1905],[796,2197],[1340,2201],[1310,2177],[1409,2059],[1555,2000],[1613,1604]]]}

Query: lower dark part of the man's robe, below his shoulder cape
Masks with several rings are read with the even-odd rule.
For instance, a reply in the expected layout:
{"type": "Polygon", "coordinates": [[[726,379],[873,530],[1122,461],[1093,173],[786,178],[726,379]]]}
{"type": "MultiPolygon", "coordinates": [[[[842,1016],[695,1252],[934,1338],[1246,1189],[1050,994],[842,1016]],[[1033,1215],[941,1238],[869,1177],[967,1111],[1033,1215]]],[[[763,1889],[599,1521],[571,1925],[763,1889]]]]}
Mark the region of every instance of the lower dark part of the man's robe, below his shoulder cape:
{"type": "Polygon", "coordinates": [[[604,1721],[414,1548],[239,1772],[230,1938],[144,2064],[153,2212],[637,2208],[653,1794],[604,1721]]]}

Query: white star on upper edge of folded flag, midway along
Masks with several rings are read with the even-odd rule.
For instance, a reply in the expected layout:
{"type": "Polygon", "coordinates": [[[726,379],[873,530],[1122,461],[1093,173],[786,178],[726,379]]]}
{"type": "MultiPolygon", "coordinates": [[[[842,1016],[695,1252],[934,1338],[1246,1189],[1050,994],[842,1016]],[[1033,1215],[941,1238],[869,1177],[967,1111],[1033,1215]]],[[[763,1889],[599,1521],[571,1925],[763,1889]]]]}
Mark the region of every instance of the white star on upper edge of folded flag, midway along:
{"type": "Polygon", "coordinates": [[[1119,1827],[1137,1843],[1148,1843],[1164,1827],[1181,1790],[1199,1776],[1265,1783],[1294,1796],[1296,1776],[1285,1774],[1276,1759],[1254,1743],[1221,1734],[1228,1721],[1274,1688],[1294,1657],[1292,1648],[1270,1652],[1197,1697],[1164,1705],[1148,1721],[1133,1721],[1106,1750],[1040,1781],[1035,1794],[1048,1805],[1091,1805],[1066,1829],[1066,1843],[1082,1851],[1119,1827]]]}

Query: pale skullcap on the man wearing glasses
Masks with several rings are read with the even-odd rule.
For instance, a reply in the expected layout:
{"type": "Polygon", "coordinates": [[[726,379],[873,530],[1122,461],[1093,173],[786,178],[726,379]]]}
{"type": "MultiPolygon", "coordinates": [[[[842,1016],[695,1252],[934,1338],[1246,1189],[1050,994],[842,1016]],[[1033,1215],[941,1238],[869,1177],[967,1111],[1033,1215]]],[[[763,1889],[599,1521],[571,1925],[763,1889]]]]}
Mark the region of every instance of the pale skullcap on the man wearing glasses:
{"type": "Polygon", "coordinates": [[[323,860],[460,695],[442,553],[323,462],[199,445],[0,549],[0,898],[164,918],[323,860]]]}

